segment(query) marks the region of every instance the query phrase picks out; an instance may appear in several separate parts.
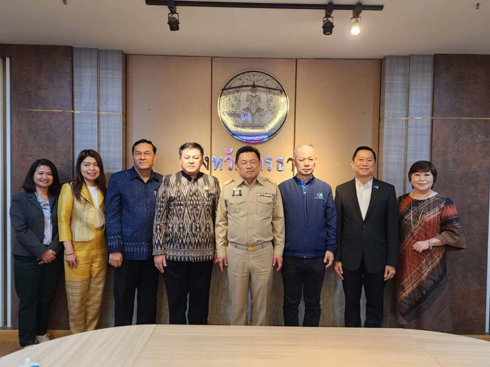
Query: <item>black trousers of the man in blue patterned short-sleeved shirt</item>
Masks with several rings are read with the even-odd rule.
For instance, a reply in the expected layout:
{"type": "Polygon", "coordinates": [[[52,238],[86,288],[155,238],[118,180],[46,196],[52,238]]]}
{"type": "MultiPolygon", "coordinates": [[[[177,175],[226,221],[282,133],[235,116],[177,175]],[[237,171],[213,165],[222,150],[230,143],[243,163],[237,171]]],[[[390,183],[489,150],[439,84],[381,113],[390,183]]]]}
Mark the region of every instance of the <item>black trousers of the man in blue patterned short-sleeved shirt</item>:
{"type": "Polygon", "coordinates": [[[133,323],[134,294],[138,290],[136,324],[157,323],[159,271],[150,260],[125,260],[114,269],[114,326],[133,323]]]}

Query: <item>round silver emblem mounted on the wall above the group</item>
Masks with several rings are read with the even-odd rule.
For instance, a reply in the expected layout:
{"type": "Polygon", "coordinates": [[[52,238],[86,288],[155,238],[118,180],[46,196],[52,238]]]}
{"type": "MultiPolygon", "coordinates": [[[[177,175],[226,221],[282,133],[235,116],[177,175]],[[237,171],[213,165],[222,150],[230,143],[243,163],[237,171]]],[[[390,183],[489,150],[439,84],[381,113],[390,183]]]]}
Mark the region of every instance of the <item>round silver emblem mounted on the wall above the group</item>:
{"type": "Polygon", "coordinates": [[[233,76],[218,98],[218,115],[228,132],[247,143],[260,143],[279,132],[289,111],[286,91],[262,71],[233,76]]]}

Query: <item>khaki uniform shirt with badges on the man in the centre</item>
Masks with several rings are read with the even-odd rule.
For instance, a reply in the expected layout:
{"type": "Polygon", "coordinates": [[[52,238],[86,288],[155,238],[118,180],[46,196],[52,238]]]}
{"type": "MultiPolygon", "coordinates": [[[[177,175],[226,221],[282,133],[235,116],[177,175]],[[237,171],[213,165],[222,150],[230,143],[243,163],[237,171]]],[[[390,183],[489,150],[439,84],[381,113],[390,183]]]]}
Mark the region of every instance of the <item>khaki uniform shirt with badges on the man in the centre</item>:
{"type": "Polygon", "coordinates": [[[257,177],[249,187],[238,177],[224,183],[216,214],[216,252],[226,256],[228,242],[255,246],[272,241],[274,253],[284,250],[284,209],[272,180],[257,177]]]}

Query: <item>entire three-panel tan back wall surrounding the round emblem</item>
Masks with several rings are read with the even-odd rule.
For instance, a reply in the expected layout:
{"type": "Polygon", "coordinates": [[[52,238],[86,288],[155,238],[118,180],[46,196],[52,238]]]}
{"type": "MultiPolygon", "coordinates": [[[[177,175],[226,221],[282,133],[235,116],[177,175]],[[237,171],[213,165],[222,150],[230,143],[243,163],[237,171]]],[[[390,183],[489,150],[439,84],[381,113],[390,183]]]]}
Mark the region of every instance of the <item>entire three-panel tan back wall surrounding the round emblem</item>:
{"type": "MultiPolygon", "coordinates": [[[[288,118],[280,133],[265,143],[256,144],[263,156],[292,156],[295,135],[298,143],[299,139],[303,142],[311,141],[317,145],[322,155],[317,174],[323,179],[333,181],[332,186],[335,187],[352,178],[349,161],[354,145],[359,142],[376,147],[379,61],[298,60],[297,65],[296,60],[213,58],[212,81],[211,70],[208,69],[209,74],[204,72],[211,66],[210,61],[211,59],[206,58],[128,56],[128,167],[132,164],[130,143],[144,136],[150,136],[157,144],[156,170],[163,174],[179,169],[178,145],[183,141],[195,140],[192,137],[199,138],[197,141],[203,144],[205,155],[210,159],[212,156],[224,157],[225,149],[229,148],[234,149],[231,154],[234,156],[236,150],[246,143],[233,138],[219,120],[217,98],[231,77],[246,70],[261,70],[272,74],[284,86],[290,103],[288,118]],[[185,75],[200,76],[199,79],[191,79],[185,75]],[[331,93],[335,95],[325,101],[327,78],[331,80],[331,93]],[[301,90],[296,90],[296,84],[301,86],[301,90]],[[212,93],[206,94],[206,88],[209,88],[208,91],[212,89],[212,93]],[[311,88],[313,92],[310,91],[311,88]],[[366,90],[370,92],[366,93],[366,90]],[[345,97],[350,98],[351,102],[345,97]],[[189,100],[192,101],[192,108],[186,104],[189,100]],[[303,103],[302,112],[296,111],[300,101],[303,103]],[[327,114],[328,119],[325,119],[323,116],[327,108],[331,112],[327,114]],[[201,113],[202,111],[205,112],[201,113]],[[211,117],[211,123],[206,114],[211,117]],[[301,125],[296,127],[295,114],[297,121],[298,116],[301,116],[301,125]],[[347,129],[346,124],[351,123],[354,123],[354,128],[347,129]],[[332,137],[336,138],[335,142],[332,137]],[[354,139],[354,143],[350,139],[354,139]],[[342,144],[353,147],[340,149],[342,144]],[[342,152],[346,155],[343,161],[342,152]],[[341,166],[342,174],[338,174],[337,166],[341,166]]],[[[212,165],[212,161],[210,163],[212,165]]],[[[227,165],[223,165],[223,170],[211,170],[222,183],[236,175],[234,169],[228,170],[227,165]]],[[[274,168],[271,172],[262,172],[262,175],[281,182],[292,177],[290,167],[289,163],[282,172],[274,168]]],[[[329,285],[323,291],[323,325],[343,323],[343,309],[338,304],[343,298],[342,290],[335,281],[336,279],[329,278],[329,285]],[[331,287],[334,282],[336,286],[331,287]]],[[[282,298],[282,279],[280,273],[276,273],[268,314],[269,322],[273,325],[283,324],[282,298]]],[[[222,274],[216,268],[211,282],[210,323],[229,323],[228,306],[226,273],[222,274]]],[[[159,322],[167,322],[166,312],[164,284],[160,282],[159,322]]]]}

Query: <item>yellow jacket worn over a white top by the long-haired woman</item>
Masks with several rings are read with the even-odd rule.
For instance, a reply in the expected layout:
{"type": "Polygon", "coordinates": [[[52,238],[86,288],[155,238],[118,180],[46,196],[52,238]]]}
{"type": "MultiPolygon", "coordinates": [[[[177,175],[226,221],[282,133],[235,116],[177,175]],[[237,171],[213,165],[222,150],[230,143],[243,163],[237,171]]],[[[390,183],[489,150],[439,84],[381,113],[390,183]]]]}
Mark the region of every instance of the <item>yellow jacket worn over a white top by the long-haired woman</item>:
{"type": "MultiPolygon", "coordinates": [[[[100,189],[99,207],[104,214],[104,195],[100,189]]],[[[90,241],[95,237],[95,207],[87,185],[83,184],[80,200],[71,191],[71,182],[61,188],[58,199],[58,232],[62,241],[90,241]]]]}

